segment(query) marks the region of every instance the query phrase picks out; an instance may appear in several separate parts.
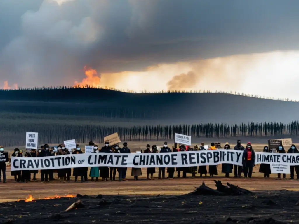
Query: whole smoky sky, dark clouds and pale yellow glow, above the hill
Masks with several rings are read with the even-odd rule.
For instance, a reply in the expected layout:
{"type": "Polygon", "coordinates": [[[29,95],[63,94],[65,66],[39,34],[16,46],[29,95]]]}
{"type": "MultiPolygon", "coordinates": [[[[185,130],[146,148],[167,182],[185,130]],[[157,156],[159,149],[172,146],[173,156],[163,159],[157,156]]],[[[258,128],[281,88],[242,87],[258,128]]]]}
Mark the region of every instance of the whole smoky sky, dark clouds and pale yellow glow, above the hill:
{"type": "Polygon", "coordinates": [[[277,96],[260,88],[299,81],[298,12],[298,0],[1,0],[0,83],[73,85],[87,65],[125,89],[241,91],[258,74],[243,92],[277,96]]]}

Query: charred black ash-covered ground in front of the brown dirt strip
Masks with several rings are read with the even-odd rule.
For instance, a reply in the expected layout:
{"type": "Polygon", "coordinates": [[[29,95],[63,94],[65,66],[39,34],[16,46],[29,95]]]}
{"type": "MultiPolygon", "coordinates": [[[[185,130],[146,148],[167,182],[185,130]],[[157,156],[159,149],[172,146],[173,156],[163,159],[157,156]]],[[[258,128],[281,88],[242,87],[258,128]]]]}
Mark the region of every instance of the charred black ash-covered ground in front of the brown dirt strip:
{"type": "Polygon", "coordinates": [[[299,223],[296,191],[242,196],[77,196],[1,203],[0,223],[299,223]],[[77,200],[83,208],[64,212],[77,200]]]}

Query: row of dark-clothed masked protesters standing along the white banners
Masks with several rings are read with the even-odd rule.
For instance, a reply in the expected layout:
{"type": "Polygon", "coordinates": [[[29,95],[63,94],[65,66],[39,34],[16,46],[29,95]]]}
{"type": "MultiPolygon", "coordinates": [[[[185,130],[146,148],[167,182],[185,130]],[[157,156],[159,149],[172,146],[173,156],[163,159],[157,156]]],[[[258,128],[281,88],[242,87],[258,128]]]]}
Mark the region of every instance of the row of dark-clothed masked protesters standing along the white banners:
{"type": "MultiPolygon", "coordinates": [[[[89,145],[94,146],[94,153],[102,152],[102,153],[131,153],[130,149],[128,148],[128,144],[126,142],[123,143],[123,147],[120,148],[118,144],[109,145],[109,142],[105,142],[105,146],[101,149],[98,148],[92,141],[89,142],[89,145]]],[[[1,146],[0,146],[1,147],[1,146]]],[[[41,147],[40,151],[36,150],[29,150],[26,151],[23,155],[23,152],[16,148],[12,154],[12,157],[49,157],[49,156],[56,156],[56,155],[66,155],[66,154],[82,154],[81,148],[79,145],[76,145],[76,149],[73,152],[70,152],[64,144],[58,145],[57,148],[50,148],[48,144],[45,144],[41,147]]],[[[225,144],[224,149],[232,150],[228,143],[225,144]]],[[[152,145],[152,147],[148,144],[144,151],[141,153],[169,153],[169,152],[179,152],[179,151],[202,151],[202,150],[217,150],[216,145],[212,142],[209,147],[205,147],[205,144],[202,143],[201,146],[195,146],[191,148],[189,146],[180,145],[178,148],[172,147],[172,150],[167,146],[167,142],[164,142],[163,147],[160,151],[156,145],[152,145]]],[[[234,147],[234,150],[243,151],[242,156],[242,166],[232,165],[232,164],[222,164],[221,172],[224,174],[224,177],[230,177],[229,175],[233,173],[234,169],[234,177],[240,178],[242,173],[244,174],[245,178],[252,177],[252,170],[254,167],[255,162],[255,152],[252,148],[250,142],[246,144],[244,148],[241,145],[241,141],[237,141],[237,145],[234,147]]],[[[3,147],[0,148],[0,153],[3,152],[3,147]]],[[[263,152],[272,152],[269,150],[268,146],[265,146],[263,152]]],[[[277,148],[277,153],[299,153],[295,145],[292,145],[291,148],[286,152],[282,145],[277,148]]],[[[5,175],[5,162],[0,162],[0,181],[1,181],[1,171],[3,176],[3,182],[6,182],[6,175],[5,175]]],[[[299,179],[299,166],[290,166],[290,179],[294,179],[294,171],[296,171],[297,179],[299,179]]],[[[99,178],[102,181],[115,181],[116,173],[118,172],[118,181],[127,181],[126,173],[127,168],[116,168],[116,167],[91,167],[89,174],[88,174],[88,167],[79,167],[73,168],[72,176],[75,179],[75,182],[78,182],[78,177],[80,177],[80,182],[88,182],[88,178],[91,177],[91,181],[99,181],[99,178]]],[[[186,178],[187,173],[192,174],[192,177],[196,177],[196,174],[199,174],[200,177],[206,177],[207,174],[210,177],[214,175],[218,175],[217,165],[209,165],[208,170],[207,166],[193,166],[193,167],[177,167],[177,168],[158,168],[158,179],[173,179],[174,173],[177,172],[177,178],[182,177],[186,178]],[[165,171],[168,173],[168,177],[165,177],[165,171]]],[[[269,178],[271,174],[271,168],[269,164],[261,164],[259,172],[264,173],[265,178],[269,178]]],[[[29,182],[29,181],[38,181],[36,179],[36,174],[38,173],[37,170],[33,171],[12,171],[11,175],[14,176],[14,180],[16,182],[29,182]],[[31,176],[33,174],[33,177],[31,176]],[[32,179],[31,179],[32,177],[32,179]]],[[[70,181],[71,179],[71,168],[62,168],[58,170],[41,170],[41,182],[50,182],[54,180],[54,173],[57,173],[57,177],[59,178],[60,182],[70,181]]],[[[147,168],[147,179],[154,179],[153,175],[156,173],[156,168],[147,168]]],[[[132,168],[131,176],[134,177],[135,180],[138,180],[138,176],[142,175],[141,168],[132,168]]],[[[277,174],[278,178],[281,178],[281,174],[277,174]]],[[[286,174],[283,174],[283,179],[286,178],[286,174]]]]}

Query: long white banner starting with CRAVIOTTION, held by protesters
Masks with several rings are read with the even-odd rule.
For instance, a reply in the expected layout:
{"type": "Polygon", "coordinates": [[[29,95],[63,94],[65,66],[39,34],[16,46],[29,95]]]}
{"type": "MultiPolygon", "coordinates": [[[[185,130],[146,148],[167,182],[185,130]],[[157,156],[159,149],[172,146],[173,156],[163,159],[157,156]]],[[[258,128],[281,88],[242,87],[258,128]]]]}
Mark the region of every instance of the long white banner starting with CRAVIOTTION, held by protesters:
{"type": "Polygon", "coordinates": [[[11,171],[47,170],[74,167],[189,167],[218,165],[221,163],[242,165],[242,151],[186,151],[171,153],[87,153],[53,157],[11,157],[11,171]]]}

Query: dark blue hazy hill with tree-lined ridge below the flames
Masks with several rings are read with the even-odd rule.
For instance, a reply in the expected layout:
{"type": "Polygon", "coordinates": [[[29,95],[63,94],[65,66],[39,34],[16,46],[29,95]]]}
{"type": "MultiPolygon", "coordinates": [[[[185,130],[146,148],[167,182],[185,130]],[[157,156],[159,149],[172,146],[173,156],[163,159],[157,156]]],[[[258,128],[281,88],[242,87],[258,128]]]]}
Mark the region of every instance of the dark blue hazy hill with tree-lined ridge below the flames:
{"type": "Polygon", "coordinates": [[[172,123],[284,122],[299,103],[227,93],[124,93],[96,88],[1,90],[0,112],[72,114],[172,123]]]}

